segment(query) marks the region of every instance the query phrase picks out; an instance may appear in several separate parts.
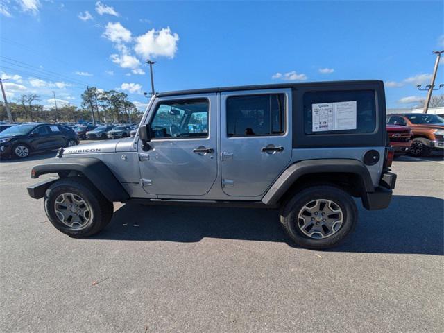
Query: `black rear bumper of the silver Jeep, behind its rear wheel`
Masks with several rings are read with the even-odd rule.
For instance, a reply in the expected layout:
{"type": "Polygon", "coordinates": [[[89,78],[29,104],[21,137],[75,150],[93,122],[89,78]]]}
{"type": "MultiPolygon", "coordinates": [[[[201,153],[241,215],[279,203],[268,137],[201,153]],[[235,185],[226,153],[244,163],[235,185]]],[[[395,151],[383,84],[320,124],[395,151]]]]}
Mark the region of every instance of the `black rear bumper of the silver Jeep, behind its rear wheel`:
{"type": "Polygon", "coordinates": [[[382,174],[379,186],[374,192],[366,193],[362,197],[362,205],[366,210],[384,210],[390,205],[393,189],[396,184],[395,173],[385,172],[382,174]]]}

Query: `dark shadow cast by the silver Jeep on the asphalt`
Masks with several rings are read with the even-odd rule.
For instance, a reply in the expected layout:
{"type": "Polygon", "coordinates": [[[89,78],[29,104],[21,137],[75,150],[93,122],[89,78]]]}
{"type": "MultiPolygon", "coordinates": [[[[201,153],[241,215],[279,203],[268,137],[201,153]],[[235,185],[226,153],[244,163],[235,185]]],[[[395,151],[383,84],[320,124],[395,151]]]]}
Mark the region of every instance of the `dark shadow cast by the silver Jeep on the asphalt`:
{"type": "MultiPolygon", "coordinates": [[[[444,200],[426,196],[393,196],[386,210],[359,208],[355,232],[330,251],[443,255],[443,208],[444,200]]],[[[198,242],[206,237],[296,247],[280,227],[278,211],[220,207],[123,205],[110,225],[89,239],[198,242]]]]}

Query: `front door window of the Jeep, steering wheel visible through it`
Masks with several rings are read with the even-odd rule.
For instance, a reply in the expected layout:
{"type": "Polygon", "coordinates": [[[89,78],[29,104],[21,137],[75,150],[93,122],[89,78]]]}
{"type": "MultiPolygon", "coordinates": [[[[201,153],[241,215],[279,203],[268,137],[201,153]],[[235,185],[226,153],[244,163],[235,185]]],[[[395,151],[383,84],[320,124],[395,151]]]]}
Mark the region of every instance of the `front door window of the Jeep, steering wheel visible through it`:
{"type": "Polygon", "coordinates": [[[207,99],[160,103],[151,122],[154,137],[207,137],[209,108],[207,99]]]}

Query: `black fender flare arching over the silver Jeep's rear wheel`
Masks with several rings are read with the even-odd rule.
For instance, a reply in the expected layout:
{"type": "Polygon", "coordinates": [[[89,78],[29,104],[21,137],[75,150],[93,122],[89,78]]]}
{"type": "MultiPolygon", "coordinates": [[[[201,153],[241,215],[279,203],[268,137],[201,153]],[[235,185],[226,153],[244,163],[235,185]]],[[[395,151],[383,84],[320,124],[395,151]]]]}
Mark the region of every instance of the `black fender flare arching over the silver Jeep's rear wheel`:
{"type": "Polygon", "coordinates": [[[362,180],[366,193],[375,191],[372,178],[366,166],[359,160],[325,159],[305,160],[291,164],[268,189],[262,202],[275,205],[298,178],[310,173],[354,173],[362,180]]]}

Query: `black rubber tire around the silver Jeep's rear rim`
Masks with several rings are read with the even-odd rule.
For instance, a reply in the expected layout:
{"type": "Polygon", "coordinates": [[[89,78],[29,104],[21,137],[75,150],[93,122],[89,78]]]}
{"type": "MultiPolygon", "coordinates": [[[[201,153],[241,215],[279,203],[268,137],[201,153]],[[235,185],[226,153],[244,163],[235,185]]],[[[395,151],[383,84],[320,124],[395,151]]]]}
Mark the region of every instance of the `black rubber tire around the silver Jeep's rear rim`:
{"type": "MultiPolygon", "coordinates": [[[[358,211],[355,201],[350,194],[334,185],[306,187],[287,200],[287,203],[284,203],[280,211],[280,222],[289,237],[299,246],[316,250],[331,248],[340,244],[341,241],[355,230],[357,219],[358,211]],[[302,229],[306,230],[307,228],[305,228],[305,224],[300,225],[298,215],[302,212],[302,208],[305,207],[305,205],[314,200],[328,200],[341,209],[342,224],[338,230],[332,231],[332,234],[330,236],[327,235],[325,238],[314,239],[301,230],[302,226],[304,227],[302,229]]],[[[322,221],[316,223],[323,224],[322,221]]]]}

